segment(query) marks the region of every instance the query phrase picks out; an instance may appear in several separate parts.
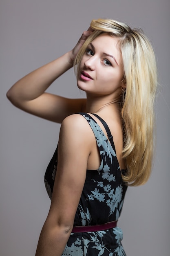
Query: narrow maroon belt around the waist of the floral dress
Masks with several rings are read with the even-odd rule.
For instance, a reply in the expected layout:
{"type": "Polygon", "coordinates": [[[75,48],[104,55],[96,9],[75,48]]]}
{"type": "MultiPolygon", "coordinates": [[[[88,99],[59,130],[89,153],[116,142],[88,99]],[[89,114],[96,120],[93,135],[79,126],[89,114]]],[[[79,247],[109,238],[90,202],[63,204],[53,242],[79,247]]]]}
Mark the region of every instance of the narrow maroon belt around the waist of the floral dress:
{"type": "Polygon", "coordinates": [[[102,231],[106,229],[111,229],[117,226],[117,220],[104,223],[102,225],[92,225],[92,226],[75,226],[72,229],[72,233],[74,232],[95,232],[102,231]]]}

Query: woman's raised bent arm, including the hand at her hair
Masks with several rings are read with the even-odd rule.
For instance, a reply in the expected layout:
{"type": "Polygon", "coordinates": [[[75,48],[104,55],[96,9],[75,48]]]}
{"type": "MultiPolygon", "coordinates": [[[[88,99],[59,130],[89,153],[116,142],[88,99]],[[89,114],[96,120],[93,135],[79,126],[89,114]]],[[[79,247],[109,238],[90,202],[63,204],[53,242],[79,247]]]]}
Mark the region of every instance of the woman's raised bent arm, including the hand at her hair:
{"type": "Polygon", "coordinates": [[[61,123],[62,120],[82,110],[85,99],[67,99],[46,93],[51,83],[68,69],[91,30],[84,31],[77,45],[56,60],[34,70],[16,82],[7,92],[7,98],[16,107],[38,117],[61,123]]]}

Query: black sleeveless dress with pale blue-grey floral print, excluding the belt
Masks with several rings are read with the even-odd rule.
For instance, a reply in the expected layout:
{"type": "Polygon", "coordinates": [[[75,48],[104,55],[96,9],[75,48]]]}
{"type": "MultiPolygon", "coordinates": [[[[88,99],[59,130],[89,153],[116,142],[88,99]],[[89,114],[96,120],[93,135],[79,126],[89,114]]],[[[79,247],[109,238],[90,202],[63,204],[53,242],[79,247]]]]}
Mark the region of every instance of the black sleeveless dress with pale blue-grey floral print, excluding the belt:
{"type": "MultiPolygon", "coordinates": [[[[118,220],[127,186],[122,182],[113,137],[110,141],[97,122],[86,113],[82,115],[96,138],[101,164],[97,170],[87,170],[84,188],[75,214],[74,226],[101,225],[118,220]]],[[[94,115],[94,114],[93,114],[94,115]]],[[[96,117],[98,117],[96,115],[96,117]]],[[[103,119],[98,117],[110,132],[103,119]]],[[[111,134],[110,134],[111,135],[111,134]]],[[[57,148],[46,169],[44,182],[51,198],[57,170],[57,148]]],[[[93,232],[71,233],[62,256],[126,256],[121,244],[119,227],[93,232]]]]}

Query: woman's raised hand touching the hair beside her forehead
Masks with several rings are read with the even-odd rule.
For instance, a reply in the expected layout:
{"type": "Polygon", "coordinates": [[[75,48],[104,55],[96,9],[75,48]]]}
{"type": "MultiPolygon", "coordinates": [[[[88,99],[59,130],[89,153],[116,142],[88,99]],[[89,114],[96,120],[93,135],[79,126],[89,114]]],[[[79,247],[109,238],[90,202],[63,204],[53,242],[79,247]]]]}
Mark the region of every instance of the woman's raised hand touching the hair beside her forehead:
{"type": "Polygon", "coordinates": [[[77,53],[79,52],[79,49],[82,47],[82,45],[84,44],[84,42],[86,41],[88,36],[91,35],[92,32],[93,32],[93,29],[91,27],[89,27],[87,31],[83,32],[83,34],[79,38],[77,44],[75,45],[75,47],[71,51],[71,56],[70,56],[70,62],[71,63],[73,63],[75,57],[77,56],[77,53]]]}

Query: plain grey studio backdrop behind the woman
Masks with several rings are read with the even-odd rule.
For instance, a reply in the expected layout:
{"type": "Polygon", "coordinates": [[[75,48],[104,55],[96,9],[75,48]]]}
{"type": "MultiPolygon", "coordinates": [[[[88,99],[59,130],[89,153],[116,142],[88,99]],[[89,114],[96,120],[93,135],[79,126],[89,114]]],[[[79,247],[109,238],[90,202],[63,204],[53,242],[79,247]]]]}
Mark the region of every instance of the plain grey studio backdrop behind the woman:
{"type": "MultiPolygon", "coordinates": [[[[170,255],[170,1],[1,0],[0,256],[33,256],[50,207],[44,173],[60,125],[13,107],[7,90],[22,76],[72,49],[93,18],[141,27],[159,72],[157,147],[148,183],[128,188],[119,227],[127,256],[170,255]]],[[[85,97],[71,69],[49,92],[85,97]]]]}

